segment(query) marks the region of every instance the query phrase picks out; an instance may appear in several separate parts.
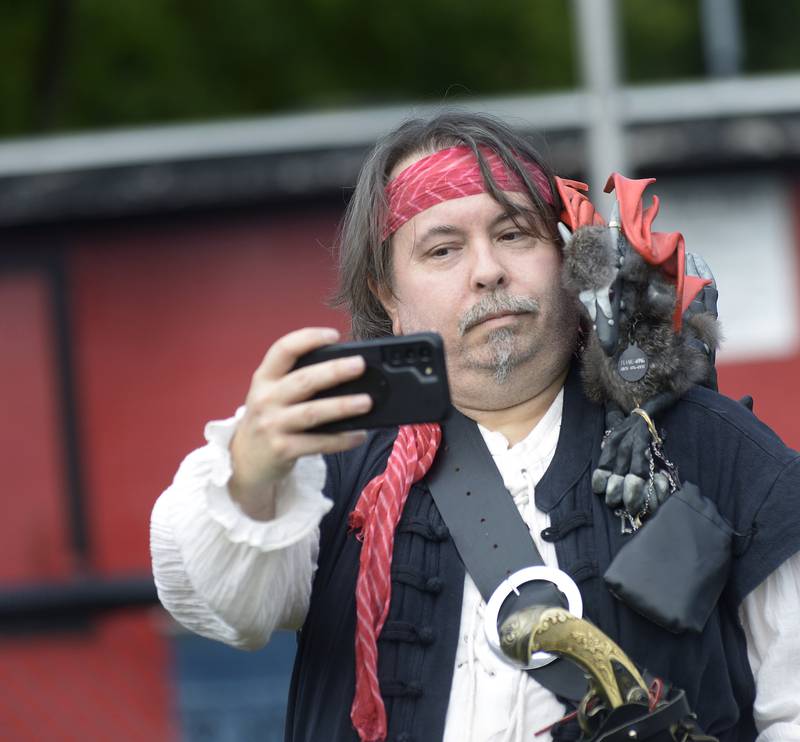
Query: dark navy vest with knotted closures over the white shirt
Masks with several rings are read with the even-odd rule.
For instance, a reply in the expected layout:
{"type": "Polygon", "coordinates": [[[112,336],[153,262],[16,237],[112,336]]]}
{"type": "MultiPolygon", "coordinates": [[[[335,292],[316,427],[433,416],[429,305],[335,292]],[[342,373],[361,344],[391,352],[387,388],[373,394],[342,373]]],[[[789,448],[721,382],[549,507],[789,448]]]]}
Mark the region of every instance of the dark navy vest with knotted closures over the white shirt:
{"type": "MultiPolygon", "coordinates": [[[[565,389],[554,459],[536,487],[549,513],[543,534],[578,583],[587,618],[640,666],[686,690],[703,728],[723,742],[753,740],[755,688],[737,609],[742,599],[800,550],[800,456],[741,405],[694,389],[657,420],[665,452],[684,480],[700,486],[737,531],[728,585],[702,634],[671,634],[629,610],[602,574],[626,538],[591,491],[603,412],[583,395],[577,373],[565,389]]],[[[355,581],[360,543],[347,516],[364,485],[385,468],[396,431],[327,457],[325,494],[334,507],[321,525],[319,568],[298,652],[287,742],[357,742],[350,723],[355,685],[355,581]]],[[[635,537],[635,536],[634,536],[635,537]]],[[[464,568],[424,482],[409,493],[395,535],[392,600],[378,641],[381,693],[391,742],[442,738],[461,619],[464,568]]],[[[575,726],[556,739],[577,738],[575,726]]]]}

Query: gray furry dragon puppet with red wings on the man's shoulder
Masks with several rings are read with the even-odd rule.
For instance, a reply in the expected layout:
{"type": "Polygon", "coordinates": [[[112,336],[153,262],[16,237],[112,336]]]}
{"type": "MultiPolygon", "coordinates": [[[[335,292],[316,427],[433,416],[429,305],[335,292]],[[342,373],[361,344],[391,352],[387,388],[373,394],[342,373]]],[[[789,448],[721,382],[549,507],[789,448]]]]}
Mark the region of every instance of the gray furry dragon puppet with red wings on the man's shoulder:
{"type": "Polygon", "coordinates": [[[563,203],[563,281],[584,307],[582,374],[606,407],[606,436],[592,477],[596,493],[635,531],[680,486],[654,418],[692,384],[716,388],[717,290],[679,232],[654,232],[659,200],[644,208],[654,178],[614,173],[606,224],[588,187],[556,178],[563,203]]]}

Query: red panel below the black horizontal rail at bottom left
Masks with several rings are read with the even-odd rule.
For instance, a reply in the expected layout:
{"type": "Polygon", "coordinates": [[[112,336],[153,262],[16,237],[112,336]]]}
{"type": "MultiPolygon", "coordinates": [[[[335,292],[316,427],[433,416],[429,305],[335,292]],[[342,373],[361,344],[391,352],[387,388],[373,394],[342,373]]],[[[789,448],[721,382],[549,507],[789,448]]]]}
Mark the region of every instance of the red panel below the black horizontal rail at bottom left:
{"type": "Polygon", "coordinates": [[[14,742],[177,739],[167,644],[151,615],[88,633],[0,641],[0,737],[14,742]]]}

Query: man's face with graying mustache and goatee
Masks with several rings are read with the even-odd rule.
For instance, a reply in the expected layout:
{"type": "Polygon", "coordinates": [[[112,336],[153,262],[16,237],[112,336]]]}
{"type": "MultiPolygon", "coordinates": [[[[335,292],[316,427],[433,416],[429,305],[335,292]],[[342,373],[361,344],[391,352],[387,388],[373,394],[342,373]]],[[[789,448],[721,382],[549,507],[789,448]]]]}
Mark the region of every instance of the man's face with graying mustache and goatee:
{"type": "MultiPolygon", "coordinates": [[[[527,205],[522,194],[507,195],[527,205]]],[[[552,382],[546,377],[565,368],[574,348],[577,314],[560,270],[555,244],[520,229],[481,193],[437,204],[395,232],[394,296],[384,305],[395,334],[442,335],[454,400],[483,391],[505,399],[496,393],[503,386],[516,398],[521,383],[535,393],[552,382]]]]}

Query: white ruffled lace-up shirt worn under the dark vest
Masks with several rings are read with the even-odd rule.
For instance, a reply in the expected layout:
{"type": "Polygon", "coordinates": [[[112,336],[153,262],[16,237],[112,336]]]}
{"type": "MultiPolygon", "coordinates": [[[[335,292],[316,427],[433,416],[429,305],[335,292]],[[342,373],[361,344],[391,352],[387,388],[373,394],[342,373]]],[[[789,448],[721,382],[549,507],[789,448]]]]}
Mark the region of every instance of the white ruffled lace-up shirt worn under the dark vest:
{"type": "MultiPolygon", "coordinates": [[[[549,518],[535,507],[534,491],[555,453],[562,404],[563,393],[510,448],[500,433],[481,428],[542,559],[553,567],[555,547],[540,536],[549,518]]],[[[227,491],[228,444],[242,414],[206,426],[207,445],[186,457],[156,502],[151,553],[159,597],[176,620],[202,636],[257,649],[275,629],[302,625],[319,522],[332,503],[322,495],[322,457],[310,456],[284,480],[276,518],[248,518],[227,491]]],[[[483,633],[484,608],[467,575],[444,742],[531,739],[564,712],[549,691],[494,655],[483,633]]],[[[747,596],[740,615],[756,678],[758,742],[800,742],[800,554],[747,596]]]]}

